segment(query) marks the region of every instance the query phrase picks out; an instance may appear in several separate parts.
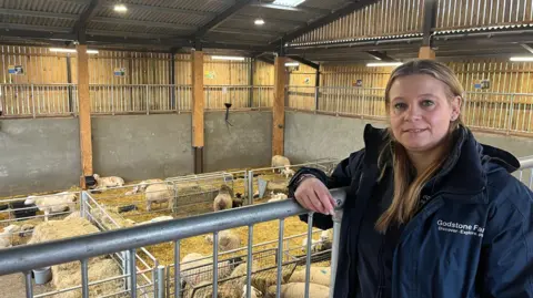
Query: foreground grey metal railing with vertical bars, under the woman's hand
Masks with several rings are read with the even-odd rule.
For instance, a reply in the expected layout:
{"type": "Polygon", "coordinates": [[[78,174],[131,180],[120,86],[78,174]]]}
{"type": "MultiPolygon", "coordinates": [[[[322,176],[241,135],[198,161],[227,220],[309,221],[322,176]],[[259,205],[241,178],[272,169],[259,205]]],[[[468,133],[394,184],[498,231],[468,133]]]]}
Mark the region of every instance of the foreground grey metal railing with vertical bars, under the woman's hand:
{"type": "MultiPolygon", "coordinates": [[[[345,198],[344,189],[332,189],[333,198],[338,202],[339,208],[345,198]]],[[[131,228],[109,230],[100,234],[92,234],[71,239],[63,239],[58,242],[43,243],[38,245],[29,245],[23,247],[9,248],[0,250],[0,275],[8,275],[13,273],[23,273],[27,281],[27,297],[32,297],[31,271],[34,268],[43,268],[57,264],[69,261],[81,261],[82,276],[82,297],[89,297],[89,280],[88,280],[88,259],[101,255],[115,254],[119,251],[129,251],[130,255],[135,255],[140,247],[155,245],[160,243],[174,243],[174,280],[177,286],[174,297],[179,297],[180,292],[180,239],[193,237],[202,234],[213,233],[213,263],[218,264],[218,247],[219,234],[218,232],[235,228],[240,226],[248,226],[249,239],[253,237],[253,225],[262,222],[275,220],[280,223],[279,229],[279,247],[283,247],[283,224],[284,218],[300,214],[309,213],[302,208],[295,201],[285,199],[271,204],[260,204],[254,206],[247,206],[237,209],[223,210],[218,213],[210,213],[200,216],[193,216],[182,219],[173,219],[168,222],[160,222],[149,225],[135,226],[131,228]],[[178,256],[178,258],[177,258],[178,256]]],[[[308,220],[308,239],[312,235],[313,214],[309,213],[308,220]]],[[[334,229],[339,229],[340,222],[335,220],[334,229]]],[[[339,233],[334,233],[336,238],[333,244],[339,242],[339,233]]],[[[251,245],[251,240],[249,240],[251,245]]],[[[278,250],[278,279],[276,285],[281,285],[281,266],[283,261],[283,250],[278,250]]],[[[248,254],[248,297],[251,297],[251,249],[248,254]]],[[[336,263],[336,254],[333,253],[332,259],[332,280],[334,280],[334,268],[336,263]]],[[[309,297],[310,289],[310,265],[311,265],[311,242],[308,242],[306,247],[306,274],[305,274],[305,298],[309,297]]],[[[134,268],[134,259],[130,258],[130,268],[134,268]]],[[[217,297],[218,288],[218,266],[213,266],[213,297],[217,297]]],[[[137,285],[137,275],[128,274],[130,285],[137,285]]],[[[279,297],[281,287],[276,287],[276,295],[279,297]]],[[[137,297],[137,287],[131,287],[131,297],[137,297]]]]}

